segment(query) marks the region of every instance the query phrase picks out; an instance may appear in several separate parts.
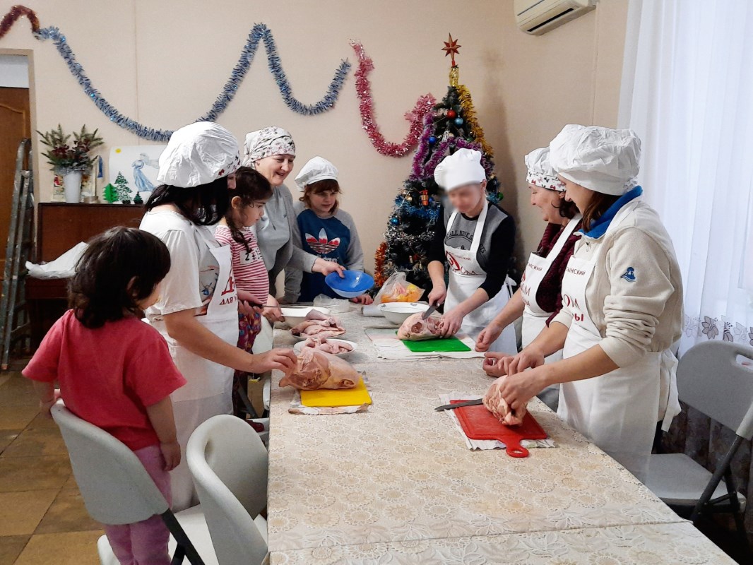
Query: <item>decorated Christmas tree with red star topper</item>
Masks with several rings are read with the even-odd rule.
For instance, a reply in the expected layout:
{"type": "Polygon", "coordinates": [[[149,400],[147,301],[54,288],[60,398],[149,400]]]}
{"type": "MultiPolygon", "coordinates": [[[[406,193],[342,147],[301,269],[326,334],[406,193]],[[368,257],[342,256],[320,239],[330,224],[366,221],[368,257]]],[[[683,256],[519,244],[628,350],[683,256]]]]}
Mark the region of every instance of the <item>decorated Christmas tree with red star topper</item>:
{"type": "Polygon", "coordinates": [[[459,84],[455,54],[460,45],[452,35],[444,45],[445,56],[452,55],[450,87],[444,99],[426,115],[411,174],[395,199],[385,241],[377,249],[374,278],[379,287],[395,271],[404,271],[409,282],[427,291],[431,289],[427,270],[428,249],[434,238],[434,224],[437,220],[441,221],[439,213],[443,193],[434,182],[434,168],[444,157],[461,148],[481,151],[481,164],[486,170],[487,197],[494,203],[501,200],[494,175],[492,148],[486,143],[477,122],[471,93],[465,85],[459,84]]]}

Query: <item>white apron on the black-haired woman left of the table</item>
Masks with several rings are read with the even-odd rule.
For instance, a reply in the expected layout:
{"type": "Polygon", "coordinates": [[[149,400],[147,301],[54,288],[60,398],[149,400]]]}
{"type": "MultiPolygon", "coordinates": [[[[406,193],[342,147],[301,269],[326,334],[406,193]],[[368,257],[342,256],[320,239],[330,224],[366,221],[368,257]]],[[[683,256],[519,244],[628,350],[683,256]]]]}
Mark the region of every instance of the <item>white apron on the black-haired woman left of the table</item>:
{"type": "MultiPolygon", "coordinates": [[[[217,285],[206,315],[195,319],[222,341],[238,344],[238,293],[233,279],[230,246],[219,246],[209,229],[195,228],[197,245],[206,245],[219,266],[217,285]]],[[[175,414],[175,429],[181,446],[181,464],[170,472],[172,509],[187,509],[198,504],[194,480],[186,463],[186,444],[194,429],[218,414],[233,412],[233,369],[191,353],[168,339],[175,365],[187,380],[185,386],[170,395],[175,414]]]]}

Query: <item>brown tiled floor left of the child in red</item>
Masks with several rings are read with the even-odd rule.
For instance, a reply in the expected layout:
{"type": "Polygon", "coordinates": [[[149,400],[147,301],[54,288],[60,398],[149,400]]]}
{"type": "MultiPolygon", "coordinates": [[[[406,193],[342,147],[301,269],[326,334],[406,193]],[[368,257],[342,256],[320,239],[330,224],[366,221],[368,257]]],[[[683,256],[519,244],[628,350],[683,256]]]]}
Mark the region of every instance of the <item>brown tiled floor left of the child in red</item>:
{"type": "Polygon", "coordinates": [[[98,565],[101,535],[57,426],[26,379],[0,374],[0,565],[98,565]]]}

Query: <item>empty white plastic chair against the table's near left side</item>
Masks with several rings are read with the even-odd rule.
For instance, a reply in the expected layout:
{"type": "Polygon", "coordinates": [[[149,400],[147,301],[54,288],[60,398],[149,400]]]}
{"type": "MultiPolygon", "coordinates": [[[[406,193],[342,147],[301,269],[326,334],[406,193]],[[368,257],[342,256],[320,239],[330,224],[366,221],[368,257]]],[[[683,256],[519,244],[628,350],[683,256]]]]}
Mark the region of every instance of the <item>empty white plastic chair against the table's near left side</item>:
{"type": "Polygon", "coordinates": [[[268,455],[259,435],[239,418],[209,418],[191,434],[186,460],[218,563],[263,563],[268,455]]]}

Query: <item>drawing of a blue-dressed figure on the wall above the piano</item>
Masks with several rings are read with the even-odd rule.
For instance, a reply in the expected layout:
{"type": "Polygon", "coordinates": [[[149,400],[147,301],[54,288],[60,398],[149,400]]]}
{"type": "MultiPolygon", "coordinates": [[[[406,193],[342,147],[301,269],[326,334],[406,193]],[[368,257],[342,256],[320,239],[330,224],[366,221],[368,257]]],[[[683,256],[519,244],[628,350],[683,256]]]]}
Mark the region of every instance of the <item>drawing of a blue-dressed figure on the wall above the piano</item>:
{"type": "Polygon", "coordinates": [[[117,200],[148,200],[157,188],[160,154],[166,145],[130,145],[110,150],[108,180],[111,185],[129,188],[129,194],[117,194],[117,200]]]}

